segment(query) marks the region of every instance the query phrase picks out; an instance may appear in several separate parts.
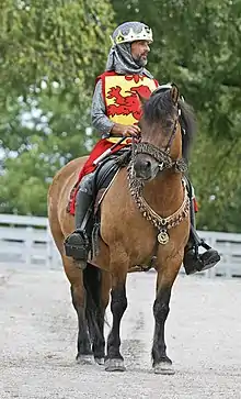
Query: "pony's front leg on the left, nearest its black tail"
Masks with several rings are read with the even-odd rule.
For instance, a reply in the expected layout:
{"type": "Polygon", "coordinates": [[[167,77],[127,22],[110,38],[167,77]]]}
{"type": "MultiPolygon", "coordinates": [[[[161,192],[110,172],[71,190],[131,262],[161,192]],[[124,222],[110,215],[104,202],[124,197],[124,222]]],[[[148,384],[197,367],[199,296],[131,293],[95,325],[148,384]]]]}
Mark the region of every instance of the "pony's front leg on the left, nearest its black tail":
{"type": "Polygon", "coordinates": [[[112,330],[107,339],[107,356],[105,359],[106,372],[124,372],[124,359],[119,352],[120,336],[119,326],[123,314],[127,308],[126,297],[126,276],[127,266],[124,263],[116,262],[111,264],[112,271],[112,291],[111,291],[111,311],[113,314],[112,330]]]}

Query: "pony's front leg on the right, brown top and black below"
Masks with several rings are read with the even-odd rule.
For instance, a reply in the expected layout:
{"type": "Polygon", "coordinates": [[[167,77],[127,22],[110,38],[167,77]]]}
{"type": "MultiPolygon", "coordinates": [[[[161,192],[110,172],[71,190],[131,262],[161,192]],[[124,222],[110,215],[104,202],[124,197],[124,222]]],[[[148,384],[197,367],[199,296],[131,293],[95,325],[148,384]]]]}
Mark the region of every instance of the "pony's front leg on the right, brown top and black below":
{"type": "Polygon", "coordinates": [[[176,263],[170,259],[165,268],[158,269],[157,296],[153,303],[154,336],[151,352],[152,366],[157,374],[174,374],[172,361],[167,355],[164,326],[170,310],[169,303],[172,286],[179,273],[181,262],[176,265],[176,263]]]}

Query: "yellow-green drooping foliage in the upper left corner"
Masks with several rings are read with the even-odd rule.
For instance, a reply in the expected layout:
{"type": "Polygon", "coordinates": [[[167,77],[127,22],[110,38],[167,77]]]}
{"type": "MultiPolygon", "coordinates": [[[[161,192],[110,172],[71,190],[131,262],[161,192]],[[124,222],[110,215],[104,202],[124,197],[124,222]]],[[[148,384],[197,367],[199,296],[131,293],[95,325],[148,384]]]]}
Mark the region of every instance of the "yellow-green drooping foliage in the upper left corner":
{"type": "Polygon", "coordinates": [[[107,51],[111,16],[107,1],[2,0],[0,78],[4,91],[22,96],[45,78],[68,90],[76,79],[90,87],[107,51]]]}

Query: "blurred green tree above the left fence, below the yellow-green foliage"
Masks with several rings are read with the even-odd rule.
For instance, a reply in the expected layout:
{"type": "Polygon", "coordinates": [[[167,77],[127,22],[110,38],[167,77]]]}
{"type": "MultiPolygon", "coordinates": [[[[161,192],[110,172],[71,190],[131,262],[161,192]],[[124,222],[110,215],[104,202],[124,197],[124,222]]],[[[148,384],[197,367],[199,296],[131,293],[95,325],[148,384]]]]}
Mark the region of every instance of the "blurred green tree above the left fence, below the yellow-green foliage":
{"type": "Polygon", "coordinates": [[[94,140],[87,135],[88,102],[83,96],[73,102],[72,95],[57,88],[50,97],[42,89],[37,98],[19,99],[12,107],[0,129],[0,212],[46,214],[51,177],[71,158],[87,154],[94,140]]]}

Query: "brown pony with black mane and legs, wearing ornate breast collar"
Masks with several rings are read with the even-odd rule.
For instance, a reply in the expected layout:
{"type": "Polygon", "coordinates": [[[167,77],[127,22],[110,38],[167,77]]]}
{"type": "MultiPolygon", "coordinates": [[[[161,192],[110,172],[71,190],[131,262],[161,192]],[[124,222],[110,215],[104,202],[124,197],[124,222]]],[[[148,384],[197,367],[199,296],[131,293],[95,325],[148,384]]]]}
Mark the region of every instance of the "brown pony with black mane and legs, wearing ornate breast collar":
{"type": "Polygon", "coordinates": [[[74,229],[66,208],[87,157],[70,162],[55,176],[48,193],[48,218],[78,314],[77,358],[93,354],[99,364],[105,358],[106,370],[125,369],[119,326],[127,308],[127,273],[136,265],[151,263],[157,270],[152,365],[158,374],[173,374],[164,324],[190,234],[183,171],[195,123],[191,108],[172,85],[157,89],[144,103],[140,128],[141,142],[133,145],[130,162],[120,168],[102,201],[99,253],[84,269],[65,255],[64,240],[74,229]],[[113,324],[105,356],[103,330],[110,292],[113,324]]]}

